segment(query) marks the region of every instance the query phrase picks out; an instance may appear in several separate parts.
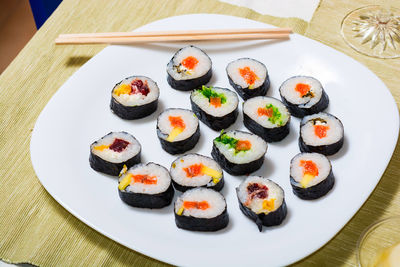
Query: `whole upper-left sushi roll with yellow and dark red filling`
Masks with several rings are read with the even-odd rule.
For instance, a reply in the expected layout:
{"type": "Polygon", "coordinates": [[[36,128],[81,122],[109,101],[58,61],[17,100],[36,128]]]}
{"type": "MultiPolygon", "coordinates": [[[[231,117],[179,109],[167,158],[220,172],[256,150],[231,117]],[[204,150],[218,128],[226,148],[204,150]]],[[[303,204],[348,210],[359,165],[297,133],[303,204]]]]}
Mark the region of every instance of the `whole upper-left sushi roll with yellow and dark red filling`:
{"type": "Polygon", "coordinates": [[[114,86],[110,108],[121,119],[140,119],[156,111],[159,96],[160,90],[152,79],[132,76],[114,86]]]}

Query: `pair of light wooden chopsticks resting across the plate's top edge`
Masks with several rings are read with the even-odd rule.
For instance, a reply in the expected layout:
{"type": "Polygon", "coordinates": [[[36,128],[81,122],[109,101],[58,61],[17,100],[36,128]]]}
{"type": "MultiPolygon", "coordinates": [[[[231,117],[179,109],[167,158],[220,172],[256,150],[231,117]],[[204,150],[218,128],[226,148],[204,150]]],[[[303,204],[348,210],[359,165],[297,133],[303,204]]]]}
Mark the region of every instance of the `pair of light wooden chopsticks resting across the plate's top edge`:
{"type": "Polygon", "coordinates": [[[59,45],[133,44],[174,41],[288,39],[291,33],[292,30],[289,28],[78,33],[60,34],[55,43],[59,45]]]}

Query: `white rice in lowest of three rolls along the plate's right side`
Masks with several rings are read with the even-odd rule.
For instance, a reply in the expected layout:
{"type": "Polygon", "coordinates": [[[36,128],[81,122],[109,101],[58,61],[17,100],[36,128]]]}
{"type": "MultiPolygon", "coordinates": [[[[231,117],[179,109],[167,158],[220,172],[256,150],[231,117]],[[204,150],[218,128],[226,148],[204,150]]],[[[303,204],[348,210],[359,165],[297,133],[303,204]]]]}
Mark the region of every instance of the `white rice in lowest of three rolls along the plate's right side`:
{"type": "MultiPolygon", "coordinates": [[[[307,184],[307,187],[319,184],[328,177],[331,171],[331,163],[324,155],[318,153],[297,154],[290,162],[290,176],[293,177],[297,183],[300,183],[304,176],[303,167],[300,165],[301,160],[311,160],[318,168],[318,175],[307,184]]],[[[298,186],[300,187],[300,184],[298,186]]]]}

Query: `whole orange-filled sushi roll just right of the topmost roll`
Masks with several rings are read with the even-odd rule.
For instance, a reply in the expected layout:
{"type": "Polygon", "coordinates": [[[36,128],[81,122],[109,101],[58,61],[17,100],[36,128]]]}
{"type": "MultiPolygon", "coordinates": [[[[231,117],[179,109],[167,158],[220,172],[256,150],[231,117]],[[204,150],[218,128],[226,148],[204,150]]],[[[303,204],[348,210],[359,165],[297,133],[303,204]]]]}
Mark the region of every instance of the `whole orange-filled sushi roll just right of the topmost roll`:
{"type": "Polygon", "coordinates": [[[247,100],[254,96],[264,96],[270,86],[267,67],[252,58],[240,58],[226,67],[229,83],[247,100]]]}

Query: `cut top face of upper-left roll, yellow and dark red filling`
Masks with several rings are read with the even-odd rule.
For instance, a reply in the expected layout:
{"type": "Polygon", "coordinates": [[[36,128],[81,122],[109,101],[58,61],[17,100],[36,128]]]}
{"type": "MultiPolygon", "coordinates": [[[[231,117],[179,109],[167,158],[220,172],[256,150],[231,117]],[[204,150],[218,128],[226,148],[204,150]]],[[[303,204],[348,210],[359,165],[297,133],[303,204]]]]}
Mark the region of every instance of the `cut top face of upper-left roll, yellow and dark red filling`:
{"type": "Polygon", "coordinates": [[[144,76],[133,76],[117,84],[112,97],[124,106],[141,106],[157,100],[159,89],[157,84],[144,76]]]}

